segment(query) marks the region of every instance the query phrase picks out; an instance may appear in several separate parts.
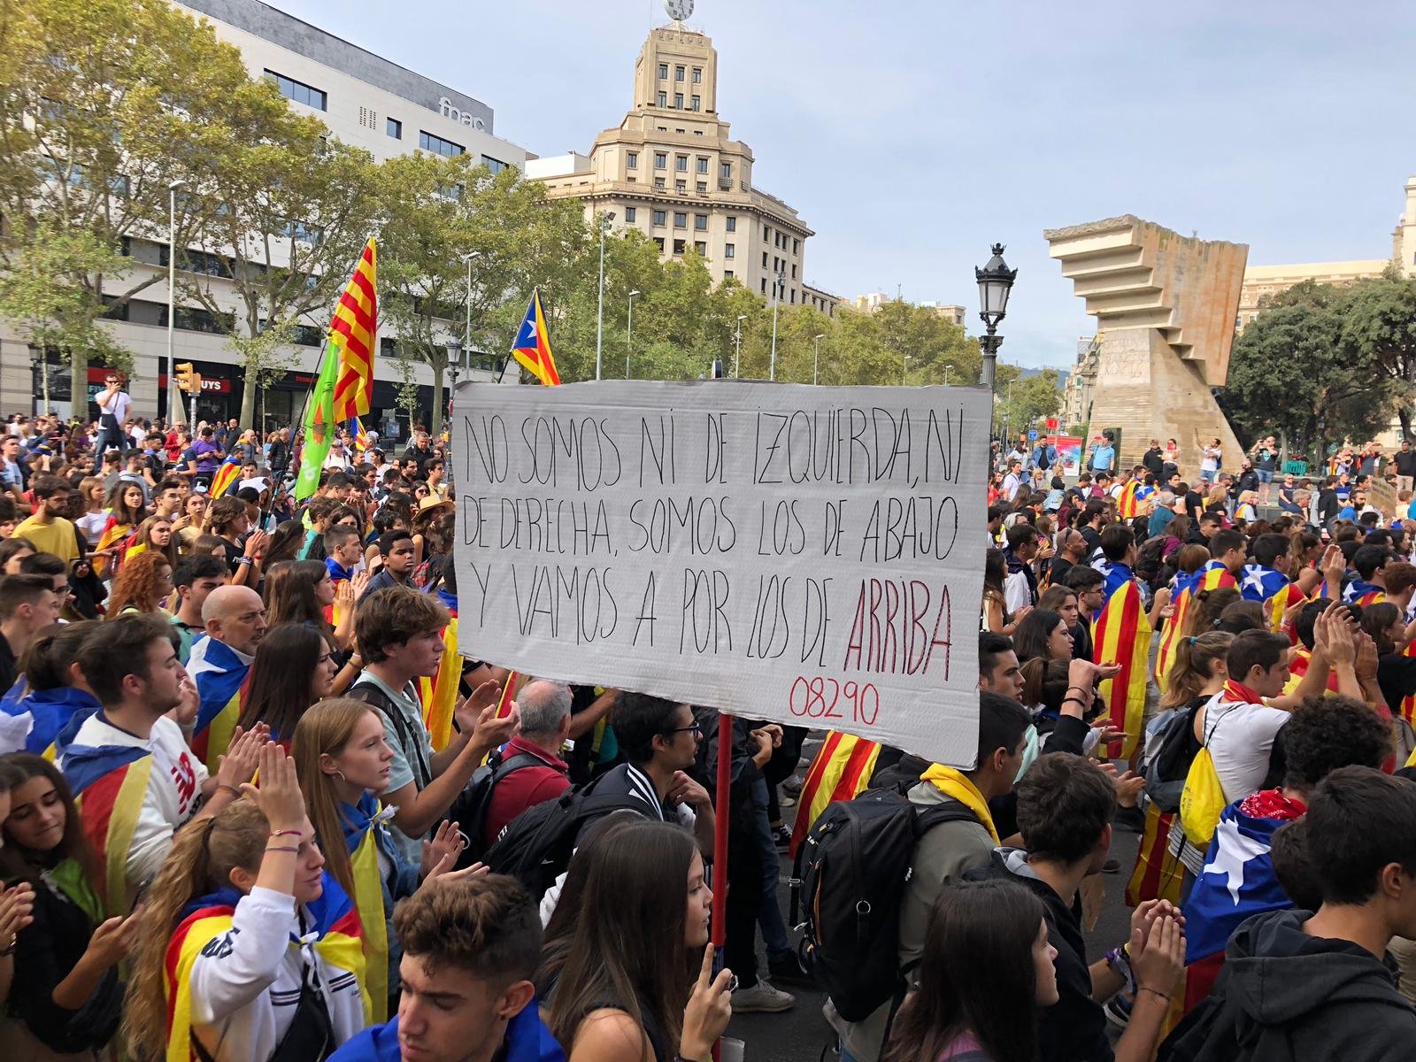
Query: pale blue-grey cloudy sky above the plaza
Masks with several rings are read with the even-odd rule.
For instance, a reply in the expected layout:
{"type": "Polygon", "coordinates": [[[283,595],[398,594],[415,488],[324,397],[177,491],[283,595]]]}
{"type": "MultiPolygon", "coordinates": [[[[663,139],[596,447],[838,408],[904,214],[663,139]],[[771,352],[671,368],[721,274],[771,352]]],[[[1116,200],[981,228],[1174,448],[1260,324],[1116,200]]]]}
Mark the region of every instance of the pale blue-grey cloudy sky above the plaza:
{"type": "MultiPolygon", "coordinates": [[[[273,0],[472,95],[535,154],[630,105],[657,0],[273,0]]],[[[993,241],[1018,268],[1004,361],[1095,331],[1044,228],[1137,214],[1249,262],[1385,258],[1416,174],[1416,6],[698,0],[718,110],[758,187],[816,229],[806,279],[970,309],[993,241]]]]}

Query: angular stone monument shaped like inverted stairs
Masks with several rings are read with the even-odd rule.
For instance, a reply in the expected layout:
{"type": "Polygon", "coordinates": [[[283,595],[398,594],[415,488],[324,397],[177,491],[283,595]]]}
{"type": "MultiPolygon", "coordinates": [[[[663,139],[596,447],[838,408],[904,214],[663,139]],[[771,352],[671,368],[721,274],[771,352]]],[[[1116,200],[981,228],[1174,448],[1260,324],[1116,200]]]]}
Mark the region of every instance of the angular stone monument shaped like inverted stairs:
{"type": "Polygon", "coordinates": [[[1124,467],[1151,439],[1175,439],[1187,479],[1218,438],[1225,470],[1236,472],[1243,450],[1209,388],[1229,374],[1247,245],[1181,236],[1131,214],[1042,236],[1096,317],[1090,433],[1121,428],[1124,467]]]}

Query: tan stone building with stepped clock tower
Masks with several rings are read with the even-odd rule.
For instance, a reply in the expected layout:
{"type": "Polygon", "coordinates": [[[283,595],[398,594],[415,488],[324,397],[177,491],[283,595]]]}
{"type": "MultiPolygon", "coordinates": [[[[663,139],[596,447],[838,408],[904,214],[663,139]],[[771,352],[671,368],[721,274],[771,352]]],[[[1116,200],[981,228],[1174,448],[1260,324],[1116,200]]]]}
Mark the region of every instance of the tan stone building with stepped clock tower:
{"type": "Polygon", "coordinates": [[[806,241],[797,212],[753,185],[752,149],[718,116],[718,52],[678,24],[650,31],[634,59],[634,99],[624,119],[595,139],[589,156],[527,160],[525,174],[551,198],[581,198],[588,215],[637,228],[666,259],[697,249],[715,280],[736,278],[783,304],[834,316],[840,302],[804,280],[806,241]]]}

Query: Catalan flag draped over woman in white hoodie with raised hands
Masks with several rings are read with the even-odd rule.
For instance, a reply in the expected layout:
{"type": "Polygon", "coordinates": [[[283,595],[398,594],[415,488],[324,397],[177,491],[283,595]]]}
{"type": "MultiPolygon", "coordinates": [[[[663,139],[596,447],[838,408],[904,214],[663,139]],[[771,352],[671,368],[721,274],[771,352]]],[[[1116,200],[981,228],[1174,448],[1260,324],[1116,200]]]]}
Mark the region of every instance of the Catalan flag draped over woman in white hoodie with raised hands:
{"type": "MultiPolygon", "coordinates": [[[[166,1062],[190,1062],[197,1058],[191,1046],[191,970],[204,952],[225,954],[219,937],[236,932],[232,920],[241,893],[227,886],[188,903],[183,920],[167,944],[163,961],[163,988],[167,995],[167,1054],[166,1062]]],[[[353,974],[364,1000],[365,1021],[372,1017],[367,987],[362,926],[348,893],[331,874],[324,874],[324,891],[306,905],[314,925],[314,950],[337,970],[353,974]]],[[[343,983],[343,976],[336,978],[343,983]]]]}

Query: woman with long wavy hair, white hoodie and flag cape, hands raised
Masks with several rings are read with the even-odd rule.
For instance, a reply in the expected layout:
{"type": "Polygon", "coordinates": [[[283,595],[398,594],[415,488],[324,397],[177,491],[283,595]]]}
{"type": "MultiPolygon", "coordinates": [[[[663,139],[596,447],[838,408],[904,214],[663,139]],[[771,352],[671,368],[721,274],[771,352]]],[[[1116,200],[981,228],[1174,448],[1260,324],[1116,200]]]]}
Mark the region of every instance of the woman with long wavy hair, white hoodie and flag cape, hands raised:
{"type": "Polygon", "coordinates": [[[133,1058],[321,1059],[364,1028],[358,913],[324,869],[295,760],[268,742],[261,787],[177,834],[127,987],[133,1058]]]}

